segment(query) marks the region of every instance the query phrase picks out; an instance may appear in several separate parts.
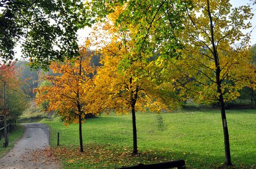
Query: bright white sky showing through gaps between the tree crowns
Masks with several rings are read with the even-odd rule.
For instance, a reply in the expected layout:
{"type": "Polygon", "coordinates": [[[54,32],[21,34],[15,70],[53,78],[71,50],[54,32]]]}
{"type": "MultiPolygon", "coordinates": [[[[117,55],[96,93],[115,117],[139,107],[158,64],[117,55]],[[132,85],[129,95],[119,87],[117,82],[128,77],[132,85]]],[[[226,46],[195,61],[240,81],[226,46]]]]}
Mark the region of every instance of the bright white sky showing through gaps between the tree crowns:
{"type": "MultiPolygon", "coordinates": [[[[212,1],[215,1],[215,0],[212,0],[212,1]]],[[[256,28],[255,28],[256,27],[256,5],[253,6],[252,2],[250,0],[231,0],[230,2],[231,2],[233,7],[239,7],[239,6],[248,5],[248,4],[250,4],[251,7],[253,7],[252,11],[254,13],[254,16],[253,16],[253,19],[250,20],[250,22],[252,24],[252,27],[251,27],[251,29],[245,31],[245,33],[250,32],[252,30],[250,45],[256,44],[256,28]]],[[[86,41],[87,37],[89,37],[89,33],[91,33],[91,31],[92,31],[92,28],[85,28],[85,29],[82,29],[82,30],[78,31],[79,45],[84,45],[84,41],[86,41]]],[[[20,59],[20,56],[21,56],[20,48],[16,47],[15,51],[16,51],[15,57],[20,59]]]]}

